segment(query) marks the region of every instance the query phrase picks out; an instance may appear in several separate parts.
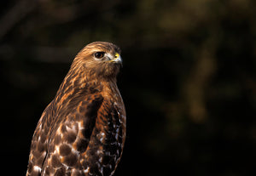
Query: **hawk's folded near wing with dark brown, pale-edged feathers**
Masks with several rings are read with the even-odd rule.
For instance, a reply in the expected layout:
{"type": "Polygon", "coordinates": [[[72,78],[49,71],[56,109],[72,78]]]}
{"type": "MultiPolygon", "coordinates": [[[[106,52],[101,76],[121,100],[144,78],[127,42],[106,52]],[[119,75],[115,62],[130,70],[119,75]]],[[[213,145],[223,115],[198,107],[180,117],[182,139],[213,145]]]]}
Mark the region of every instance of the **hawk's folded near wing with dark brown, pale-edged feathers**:
{"type": "Polygon", "coordinates": [[[79,153],[86,150],[95,126],[97,111],[102,105],[101,94],[93,94],[79,102],[61,121],[56,119],[55,129],[49,139],[48,154],[42,169],[44,173],[68,173],[81,170],[79,153]]]}

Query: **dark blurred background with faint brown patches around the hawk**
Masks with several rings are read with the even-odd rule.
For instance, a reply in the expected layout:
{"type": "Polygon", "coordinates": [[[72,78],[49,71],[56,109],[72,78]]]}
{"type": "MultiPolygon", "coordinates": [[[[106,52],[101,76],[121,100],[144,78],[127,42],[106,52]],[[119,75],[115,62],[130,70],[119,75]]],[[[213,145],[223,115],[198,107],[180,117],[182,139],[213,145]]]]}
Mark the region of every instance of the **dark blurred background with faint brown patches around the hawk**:
{"type": "Polygon", "coordinates": [[[256,1],[1,1],[2,172],[87,43],[122,49],[127,111],[115,175],[255,175],[256,1]]]}

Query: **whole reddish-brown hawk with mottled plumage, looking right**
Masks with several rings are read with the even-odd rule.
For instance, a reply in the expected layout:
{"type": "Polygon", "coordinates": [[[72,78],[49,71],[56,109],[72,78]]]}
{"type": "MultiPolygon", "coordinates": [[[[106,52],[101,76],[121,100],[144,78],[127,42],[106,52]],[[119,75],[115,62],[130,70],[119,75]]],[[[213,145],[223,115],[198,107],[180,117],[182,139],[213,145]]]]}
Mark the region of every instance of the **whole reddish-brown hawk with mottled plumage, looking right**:
{"type": "Polygon", "coordinates": [[[38,122],[26,176],[113,175],[125,143],[121,62],[113,43],[90,43],[77,54],[38,122]]]}

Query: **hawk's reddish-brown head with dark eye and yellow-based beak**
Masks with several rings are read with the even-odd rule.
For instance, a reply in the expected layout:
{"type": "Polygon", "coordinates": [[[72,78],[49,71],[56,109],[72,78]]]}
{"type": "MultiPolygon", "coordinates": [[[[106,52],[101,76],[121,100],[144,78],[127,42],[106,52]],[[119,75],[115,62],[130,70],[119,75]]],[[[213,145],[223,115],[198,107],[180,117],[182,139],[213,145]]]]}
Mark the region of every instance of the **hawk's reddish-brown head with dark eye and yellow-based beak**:
{"type": "Polygon", "coordinates": [[[88,76],[116,77],[122,64],[120,52],[113,43],[90,43],[77,54],[72,67],[88,76]]]}

